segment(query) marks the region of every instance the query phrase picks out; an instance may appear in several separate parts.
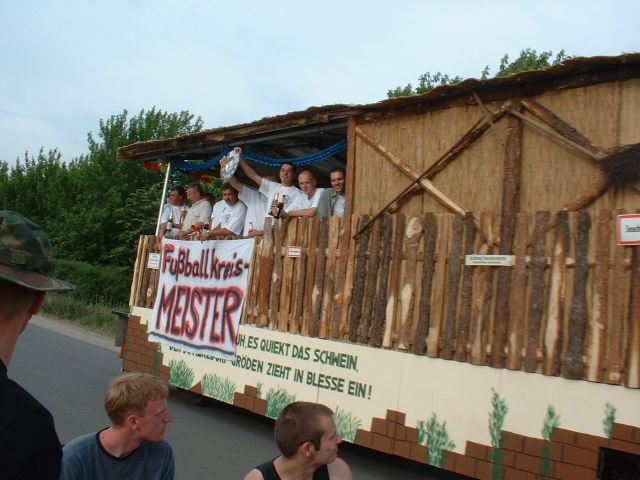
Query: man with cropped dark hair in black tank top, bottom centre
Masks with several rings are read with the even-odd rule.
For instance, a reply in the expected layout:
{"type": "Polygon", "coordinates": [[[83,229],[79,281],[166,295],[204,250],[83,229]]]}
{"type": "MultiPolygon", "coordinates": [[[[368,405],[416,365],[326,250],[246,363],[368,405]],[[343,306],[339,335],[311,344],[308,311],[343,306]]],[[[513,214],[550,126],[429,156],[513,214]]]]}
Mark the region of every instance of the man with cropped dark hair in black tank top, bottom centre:
{"type": "Polygon", "coordinates": [[[294,402],[276,420],[275,439],[282,455],[258,465],[245,480],[352,480],[338,458],[342,438],[333,412],[319,403],[294,402]]]}

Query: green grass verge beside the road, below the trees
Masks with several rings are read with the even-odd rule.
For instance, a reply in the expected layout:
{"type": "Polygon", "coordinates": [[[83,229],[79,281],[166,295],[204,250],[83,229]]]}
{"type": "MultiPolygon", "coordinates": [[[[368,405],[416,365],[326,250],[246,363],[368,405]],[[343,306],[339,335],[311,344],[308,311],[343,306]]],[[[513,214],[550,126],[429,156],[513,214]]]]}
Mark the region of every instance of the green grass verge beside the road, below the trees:
{"type": "Polygon", "coordinates": [[[62,320],[70,320],[91,329],[113,335],[118,325],[112,310],[128,311],[126,305],[96,299],[89,302],[69,293],[50,292],[45,297],[43,313],[62,320]]]}

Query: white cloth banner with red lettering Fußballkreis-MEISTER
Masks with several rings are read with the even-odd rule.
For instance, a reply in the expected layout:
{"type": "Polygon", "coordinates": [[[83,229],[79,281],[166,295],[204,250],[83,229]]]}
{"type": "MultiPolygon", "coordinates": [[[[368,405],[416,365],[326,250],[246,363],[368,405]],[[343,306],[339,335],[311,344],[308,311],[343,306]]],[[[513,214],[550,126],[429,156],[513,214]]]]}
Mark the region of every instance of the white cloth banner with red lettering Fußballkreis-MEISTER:
{"type": "Polygon", "coordinates": [[[254,244],[165,239],[149,340],[233,360],[254,244]]]}

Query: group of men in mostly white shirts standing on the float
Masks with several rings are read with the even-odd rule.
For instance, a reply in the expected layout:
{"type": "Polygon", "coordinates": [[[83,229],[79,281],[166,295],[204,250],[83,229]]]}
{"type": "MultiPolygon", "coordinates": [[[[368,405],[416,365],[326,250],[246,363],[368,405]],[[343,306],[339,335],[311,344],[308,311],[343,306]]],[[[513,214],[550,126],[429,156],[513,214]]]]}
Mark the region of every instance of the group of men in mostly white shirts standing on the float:
{"type": "Polygon", "coordinates": [[[222,185],[222,200],[214,203],[202,186],[176,186],[160,218],[160,235],[167,238],[200,239],[262,235],[267,217],[295,218],[342,216],[345,208],[345,170],[331,170],[331,188],[317,188],[315,174],[308,169],[297,175],[293,163],[280,167],[280,182],[260,176],[244,159],[240,167],[258,190],[240,183],[235,176],[222,185]],[[186,199],[191,204],[185,204],[186,199]]]}

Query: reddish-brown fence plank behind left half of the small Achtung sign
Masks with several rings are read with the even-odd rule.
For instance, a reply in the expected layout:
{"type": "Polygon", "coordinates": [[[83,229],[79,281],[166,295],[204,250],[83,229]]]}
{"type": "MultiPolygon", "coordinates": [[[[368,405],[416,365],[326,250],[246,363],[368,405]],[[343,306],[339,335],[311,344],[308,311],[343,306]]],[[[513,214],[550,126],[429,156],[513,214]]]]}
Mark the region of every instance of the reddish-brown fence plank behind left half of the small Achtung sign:
{"type": "MultiPolygon", "coordinates": [[[[478,248],[479,255],[492,254],[496,235],[494,216],[480,216],[480,232],[484,241],[478,248]]],[[[491,304],[493,301],[494,267],[476,267],[473,272],[473,299],[471,305],[471,351],[470,361],[474,365],[485,365],[487,355],[487,332],[490,328],[491,304]]]]}

